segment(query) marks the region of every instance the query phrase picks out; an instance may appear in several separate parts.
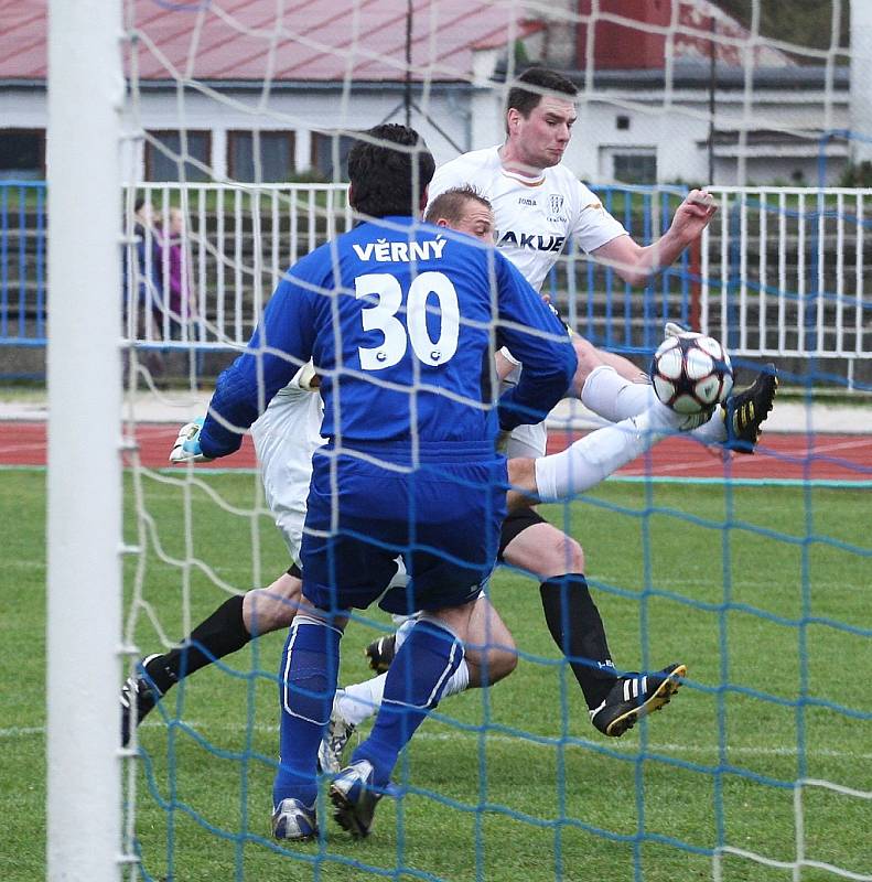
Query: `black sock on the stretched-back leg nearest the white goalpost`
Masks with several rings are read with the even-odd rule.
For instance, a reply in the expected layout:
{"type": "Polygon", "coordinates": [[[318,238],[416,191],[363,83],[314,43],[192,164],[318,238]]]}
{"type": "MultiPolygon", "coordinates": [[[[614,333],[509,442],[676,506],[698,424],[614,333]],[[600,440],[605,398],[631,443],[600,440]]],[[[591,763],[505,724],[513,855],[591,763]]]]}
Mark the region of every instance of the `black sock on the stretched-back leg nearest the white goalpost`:
{"type": "Polygon", "coordinates": [[[250,639],[243,621],[243,598],[236,594],[201,622],[183,646],[152,659],[146,670],[164,693],[179,680],[211,665],[216,658],[241,649],[250,639]]]}

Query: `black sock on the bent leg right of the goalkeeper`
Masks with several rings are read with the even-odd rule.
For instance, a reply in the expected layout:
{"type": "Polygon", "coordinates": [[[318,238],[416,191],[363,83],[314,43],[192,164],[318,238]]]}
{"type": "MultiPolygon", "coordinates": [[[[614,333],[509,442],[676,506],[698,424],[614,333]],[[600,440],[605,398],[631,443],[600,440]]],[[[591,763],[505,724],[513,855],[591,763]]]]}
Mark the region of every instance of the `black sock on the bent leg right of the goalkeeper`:
{"type": "Polygon", "coordinates": [[[539,587],[545,621],[567,656],[588,707],[599,707],[614,686],[616,673],[600,611],[581,573],[553,576],[539,587]]]}

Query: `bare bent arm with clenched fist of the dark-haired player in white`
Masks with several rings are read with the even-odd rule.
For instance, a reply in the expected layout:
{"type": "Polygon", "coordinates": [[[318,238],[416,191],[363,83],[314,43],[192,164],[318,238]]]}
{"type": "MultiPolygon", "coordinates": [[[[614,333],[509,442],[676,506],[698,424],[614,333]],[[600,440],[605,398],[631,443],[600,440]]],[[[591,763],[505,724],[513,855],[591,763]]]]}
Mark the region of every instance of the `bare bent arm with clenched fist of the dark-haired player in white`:
{"type": "Polygon", "coordinates": [[[702,235],[717,211],[710,193],[691,190],[676,209],[669,229],[657,241],[642,246],[629,236],[618,236],[592,254],[613,267],[625,282],[643,286],[653,273],[671,266],[702,235]]]}

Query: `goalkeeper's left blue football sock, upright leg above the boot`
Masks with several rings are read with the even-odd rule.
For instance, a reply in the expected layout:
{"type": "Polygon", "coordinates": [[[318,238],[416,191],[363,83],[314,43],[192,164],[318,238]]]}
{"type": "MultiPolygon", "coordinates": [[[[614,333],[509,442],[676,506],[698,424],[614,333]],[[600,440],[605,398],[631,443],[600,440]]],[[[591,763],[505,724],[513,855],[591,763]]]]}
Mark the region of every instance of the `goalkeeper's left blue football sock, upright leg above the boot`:
{"type": "Polygon", "coordinates": [[[298,615],[288,633],[279,670],[281,761],[273,805],[293,797],[313,805],[317,796],[317,746],[330,722],[342,632],[298,615]]]}

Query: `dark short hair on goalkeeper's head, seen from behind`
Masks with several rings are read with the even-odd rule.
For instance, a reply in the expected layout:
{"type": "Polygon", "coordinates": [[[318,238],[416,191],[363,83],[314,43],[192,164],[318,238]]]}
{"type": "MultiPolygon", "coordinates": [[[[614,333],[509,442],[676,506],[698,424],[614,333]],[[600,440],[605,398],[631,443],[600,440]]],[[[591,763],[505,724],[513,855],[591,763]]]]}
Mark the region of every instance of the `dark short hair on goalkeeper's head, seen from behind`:
{"type": "Polygon", "coordinates": [[[376,126],[364,135],[367,140],[358,140],[348,153],[352,207],[370,217],[417,216],[421,194],[435,171],[423,138],[396,122],[376,126]]]}

